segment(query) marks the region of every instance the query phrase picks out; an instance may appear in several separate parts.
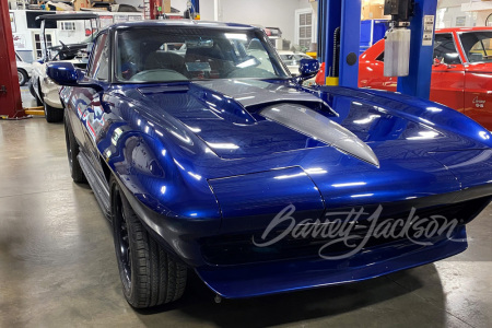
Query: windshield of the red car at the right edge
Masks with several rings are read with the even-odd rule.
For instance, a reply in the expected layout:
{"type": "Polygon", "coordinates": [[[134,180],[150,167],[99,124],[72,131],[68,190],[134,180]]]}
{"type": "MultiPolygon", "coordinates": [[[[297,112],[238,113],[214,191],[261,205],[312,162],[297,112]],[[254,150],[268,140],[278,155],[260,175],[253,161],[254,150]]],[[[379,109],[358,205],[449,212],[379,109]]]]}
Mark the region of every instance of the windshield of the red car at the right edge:
{"type": "Polygon", "coordinates": [[[468,62],[492,62],[492,31],[467,32],[459,37],[468,62]]]}

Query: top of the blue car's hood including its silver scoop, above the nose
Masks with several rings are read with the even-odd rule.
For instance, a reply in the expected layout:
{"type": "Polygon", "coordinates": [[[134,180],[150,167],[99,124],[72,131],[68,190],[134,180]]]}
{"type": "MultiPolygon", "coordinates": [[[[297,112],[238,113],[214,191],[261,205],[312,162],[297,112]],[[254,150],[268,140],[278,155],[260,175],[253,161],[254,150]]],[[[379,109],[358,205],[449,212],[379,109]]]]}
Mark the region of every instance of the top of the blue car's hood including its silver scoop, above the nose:
{"type": "MultiPolygon", "coordinates": [[[[488,148],[426,119],[415,112],[421,106],[362,91],[216,80],[142,86],[130,93],[147,108],[171,114],[227,160],[330,147],[378,166],[378,159],[395,150],[422,156],[488,148]]],[[[434,110],[444,110],[435,106],[434,110]]]]}

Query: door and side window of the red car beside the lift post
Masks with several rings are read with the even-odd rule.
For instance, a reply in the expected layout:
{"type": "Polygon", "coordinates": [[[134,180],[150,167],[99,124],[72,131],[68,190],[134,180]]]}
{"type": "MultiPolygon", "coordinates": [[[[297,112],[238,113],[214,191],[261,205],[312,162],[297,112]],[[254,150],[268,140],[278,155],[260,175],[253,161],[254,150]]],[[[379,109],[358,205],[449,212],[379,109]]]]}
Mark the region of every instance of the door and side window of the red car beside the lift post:
{"type": "Polygon", "coordinates": [[[435,35],[434,61],[431,79],[431,101],[464,112],[465,67],[453,33],[435,35]]]}

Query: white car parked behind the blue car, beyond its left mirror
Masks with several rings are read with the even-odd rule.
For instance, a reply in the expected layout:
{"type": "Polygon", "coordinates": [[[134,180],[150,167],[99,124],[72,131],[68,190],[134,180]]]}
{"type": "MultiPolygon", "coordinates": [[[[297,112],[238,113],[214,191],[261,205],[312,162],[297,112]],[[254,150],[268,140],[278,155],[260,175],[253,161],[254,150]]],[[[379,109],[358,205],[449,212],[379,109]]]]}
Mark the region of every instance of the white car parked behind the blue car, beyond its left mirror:
{"type": "MultiPolygon", "coordinates": [[[[92,26],[89,31],[98,27],[98,16],[94,13],[79,14],[47,14],[40,15],[37,21],[90,21],[92,26]]],[[[42,25],[43,26],[43,25],[42,25]]],[[[46,40],[45,28],[42,28],[43,38],[46,40]]],[[[63,107],[58,95],[59,86],[46,75],[46,66],[51,61],[70,61],[78,68],[87,65],[87,46],[92,44],[92,35],[79,44],[65,44],[48,47],[42,42],[43,58],[33,62],[30,82],[31,94],[36,98],[38,106],[44,106],[45,117],[48,122],[59,122],[63,119],[63,107]]]]}

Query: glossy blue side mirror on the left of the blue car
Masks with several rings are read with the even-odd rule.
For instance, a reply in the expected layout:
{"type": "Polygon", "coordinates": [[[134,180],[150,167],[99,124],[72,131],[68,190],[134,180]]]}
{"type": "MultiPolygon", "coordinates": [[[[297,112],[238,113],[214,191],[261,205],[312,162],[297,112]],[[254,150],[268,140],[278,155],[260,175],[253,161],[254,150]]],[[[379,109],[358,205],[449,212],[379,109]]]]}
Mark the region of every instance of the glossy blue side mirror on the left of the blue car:
{"type": "Polygon", "coordinates": [[[91,87],[96,92],[103,86],[93,79],[86,79],[85,73],[77,69],[71,62],[56,61],[49,62],[46,67],[46,74],[55,83],[66,86],[91,87]]]}

